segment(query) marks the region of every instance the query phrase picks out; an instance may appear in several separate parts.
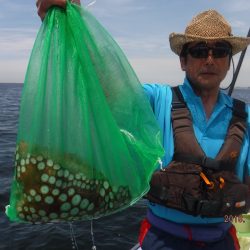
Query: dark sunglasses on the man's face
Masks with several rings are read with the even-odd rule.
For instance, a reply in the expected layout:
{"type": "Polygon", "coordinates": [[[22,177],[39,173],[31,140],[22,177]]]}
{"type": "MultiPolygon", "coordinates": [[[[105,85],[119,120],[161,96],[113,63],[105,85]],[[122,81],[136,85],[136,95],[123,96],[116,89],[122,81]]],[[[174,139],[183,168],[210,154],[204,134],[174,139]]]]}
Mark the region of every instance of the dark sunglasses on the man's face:
{"type": "Polygon", "coordinates": [[[212,51],[213,58],[223,58],[231,54],[231,48],[227,45],[209,46],[194,46],[187,49],[187,52],[193,58],[208,58],[209,51],[212,51]]]}

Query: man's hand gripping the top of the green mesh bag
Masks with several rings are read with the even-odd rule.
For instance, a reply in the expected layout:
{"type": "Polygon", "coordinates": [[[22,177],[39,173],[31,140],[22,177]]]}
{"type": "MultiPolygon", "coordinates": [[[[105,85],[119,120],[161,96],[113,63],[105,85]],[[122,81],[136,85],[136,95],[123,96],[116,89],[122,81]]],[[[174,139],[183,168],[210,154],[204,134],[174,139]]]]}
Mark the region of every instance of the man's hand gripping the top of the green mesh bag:
{"type": "MultiPolygon", "coordinates": [[[[67,0],[37,0],[36,6],[37,6],[37,13],[40,16],[40,18],[43,20],[48,9],[53,6],[59,6],[62,8],[65,8],[67,0]]],[[[81,5],[81,0],[71,0],[72,3],[76,3],[81,5]]]]}

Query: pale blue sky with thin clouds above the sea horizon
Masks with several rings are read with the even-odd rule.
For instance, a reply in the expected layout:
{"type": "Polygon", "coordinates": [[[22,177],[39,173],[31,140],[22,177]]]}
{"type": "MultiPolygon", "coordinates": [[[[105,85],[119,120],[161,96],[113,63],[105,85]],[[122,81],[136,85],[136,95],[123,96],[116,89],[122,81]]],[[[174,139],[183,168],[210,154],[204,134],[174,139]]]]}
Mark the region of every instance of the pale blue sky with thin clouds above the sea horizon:
{"type": "MultiPolygon", "coordinates": [[[[82,0],[84,6],[92,2],[82,0]]],[[[96,0],[88,9],[123,49],[143,83],[182,83],[184,72],[168,36],[183,33],[199,12],[216,9],[234,35],[246,36],[250,27],[249,0],[96,0]]],[[[35,0],[0,0],[0,82],[23,83],[40,25],[35,0]]],[[[231,78],[232,69],[223,86],[231,78]]],[[[236,85],[250,87],[250,48],[236,85]]]]}

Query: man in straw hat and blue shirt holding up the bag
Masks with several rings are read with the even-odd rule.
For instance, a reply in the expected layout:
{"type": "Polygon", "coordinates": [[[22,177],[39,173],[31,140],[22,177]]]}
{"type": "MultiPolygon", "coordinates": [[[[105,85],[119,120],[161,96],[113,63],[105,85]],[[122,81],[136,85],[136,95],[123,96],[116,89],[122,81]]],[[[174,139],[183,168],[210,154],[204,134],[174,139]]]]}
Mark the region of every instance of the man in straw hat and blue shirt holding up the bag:
{"type": "MultiPolygon", "coordinates": [[[[38,14],[42,19],[52,5],[63,7],[65,0],[37,1],[38,14]]],[[[239,249],[235,228],[230,222],[225,222],[225,218],[230,216],[227,211],[239,216],[246,209],[248,187],[238,181],[234,170],[241,181],[247,180],[250,116],[247,117],[245,109],[248,108],[241,102],[236,102],[235,107],[232,98],[220,91],[220,84],[229,70],[231,57],[249,43],[250,39],[233,36],[229,24],[213,10],[196,16],[185,34],[170,35],[171,49],[180,56],[181,68],[186,73],[184,84],[179,91],[175,90],[177,98],[166,85],[145,85],[144,89],[163,134],[166,151],[163,166],[167,170],[178,169],[178,175],[184,175],[184,179],[180,179],[173,189],[178,179],[176,175],[168,179],[171,185],[157,182],[165,178],[160,175],[157,179],[158,172],[153,175],[147,219],[142,223],[139,237],[143,250],[239,249]],[[174,108],[171,110],[171,107],[174,108]],[[178,119],[178,115],[184,120],[178,119]],[[184,127],[188,133],[182,131],[184,127]],[[202,162],[199,162],[200,158],[202,162]],[[225,161],[227,164],[219,164],[225,161]],[[229,169],[225,169],[227,166],[229,169]],[[184,173],[183,169],[187,172],[195,170],[198,174],[190,177],[190,173],[184,173]],[[217,179],[214,173],[219,173],[217,179]],[[232,185],[228,184],[230,181],[232,185]],[[159,187],[159,183],[163,185],[159,187]],[[194,189],[193,185],[196,185],[194,189]],[[185,197],[185,203],[180,193],[185,194],[188,186],[191,187],[188,193],[191,198],[195,198],[197,193],[197,197],[204,195],[204,192],[212,198],[197,198],[196,201],[189,196],[189,200],[185,197]],[[177,190],[176,197],[165,199],[164,195],[169,190],[177,190]],[[192,197],[192,194],[195,195],[192,197]],[[228,195],[229,200],[221,201],[221,197],[227,198],[228,195]],[[231,204],[232,199],[235,202],[231,204]]]]}

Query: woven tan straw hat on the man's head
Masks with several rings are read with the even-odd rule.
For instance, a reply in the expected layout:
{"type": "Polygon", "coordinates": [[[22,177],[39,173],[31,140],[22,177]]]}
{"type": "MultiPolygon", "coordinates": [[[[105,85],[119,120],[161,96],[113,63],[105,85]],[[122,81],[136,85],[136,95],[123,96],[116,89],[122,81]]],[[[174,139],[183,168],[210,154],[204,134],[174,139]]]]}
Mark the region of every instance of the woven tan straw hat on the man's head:
{"type": "Polygon", "coordinates": [[[170,47],[177,55],[180,55],[185,43],[212,40],[229,42],[233,55],[250,44],[250,38],[233,36],[229,23],[215,10],[204,11],[194,17],[184,34],[171,33],[169,36],[170,47]]]}

